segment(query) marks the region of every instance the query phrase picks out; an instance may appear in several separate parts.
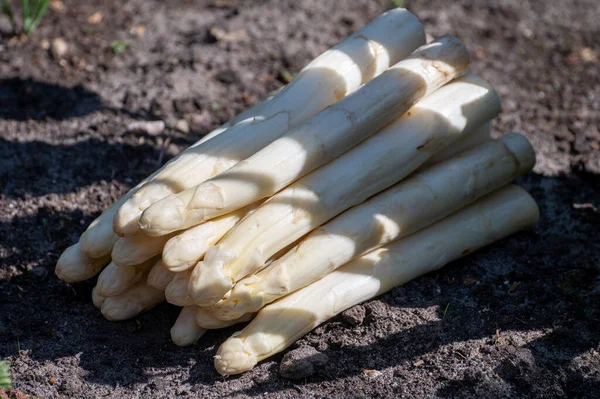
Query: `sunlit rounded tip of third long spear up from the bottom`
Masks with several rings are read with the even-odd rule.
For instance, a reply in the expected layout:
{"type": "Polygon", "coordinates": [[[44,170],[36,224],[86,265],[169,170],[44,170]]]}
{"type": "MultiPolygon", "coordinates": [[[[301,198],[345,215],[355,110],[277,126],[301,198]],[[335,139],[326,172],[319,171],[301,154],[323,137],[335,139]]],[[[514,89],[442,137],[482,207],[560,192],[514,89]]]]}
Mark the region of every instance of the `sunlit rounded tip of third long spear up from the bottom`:
{"type": "Polygon", "coordinates": [[[233,280],[225,273],[225,265],[236,259],[236,254],[220,246],[212,247],[199,262],[190,278],[188,291],[198,306],[217,303],[231,288],[233,280]]]}

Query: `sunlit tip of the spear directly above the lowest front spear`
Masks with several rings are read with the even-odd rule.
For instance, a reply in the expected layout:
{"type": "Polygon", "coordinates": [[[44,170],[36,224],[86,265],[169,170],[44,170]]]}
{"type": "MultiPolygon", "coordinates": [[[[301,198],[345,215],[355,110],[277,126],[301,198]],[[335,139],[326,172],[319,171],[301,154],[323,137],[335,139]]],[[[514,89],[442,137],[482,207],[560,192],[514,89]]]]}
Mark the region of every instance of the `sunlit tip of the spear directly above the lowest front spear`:
{"type": "Polygon", "coordinates": [[[265,300],[262,292],[252,292],[249,285],[255,283],[256,275],[238,281],[226,298],[212,306],[212,312],[221,320],[234,320],[246,313],[258,312],[265,300]]]}

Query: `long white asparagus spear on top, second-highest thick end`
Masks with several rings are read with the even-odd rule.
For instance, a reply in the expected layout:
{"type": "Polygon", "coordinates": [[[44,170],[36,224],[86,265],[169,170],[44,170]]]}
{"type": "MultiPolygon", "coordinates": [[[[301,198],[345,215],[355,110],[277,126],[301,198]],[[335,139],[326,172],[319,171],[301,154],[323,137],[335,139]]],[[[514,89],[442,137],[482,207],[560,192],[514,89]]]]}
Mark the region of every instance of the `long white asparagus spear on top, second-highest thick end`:
{"type": "Polygon", "coordinates": [[[422,46],[238,165],[154,203],[140,227],[148,235],[164,235],[268,197],[399,117],[463,74],[468,63],[467,49],[454,37],[422,46]]]}

